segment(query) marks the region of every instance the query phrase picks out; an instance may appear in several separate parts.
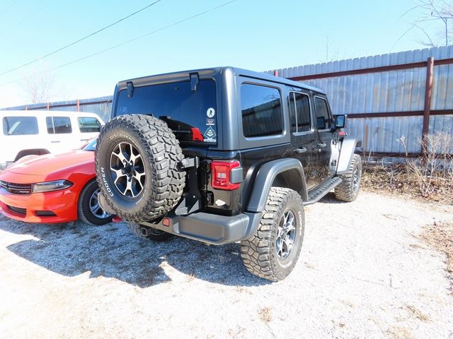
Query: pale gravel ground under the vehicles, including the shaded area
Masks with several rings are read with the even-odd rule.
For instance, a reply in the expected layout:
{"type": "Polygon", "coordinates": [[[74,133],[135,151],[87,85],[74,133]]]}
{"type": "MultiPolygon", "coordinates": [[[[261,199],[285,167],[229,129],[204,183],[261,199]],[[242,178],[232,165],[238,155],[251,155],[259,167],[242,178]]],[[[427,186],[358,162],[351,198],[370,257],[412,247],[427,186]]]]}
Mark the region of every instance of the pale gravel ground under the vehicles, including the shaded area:
{"type": "Polygon", "coordinates": [[[447,206],[328,196],[306,208],[293,273],[270,283],[239,244],[1,216],[0,338],[453,338],[445,255],[418,238],[452,220],[447,206]]]}

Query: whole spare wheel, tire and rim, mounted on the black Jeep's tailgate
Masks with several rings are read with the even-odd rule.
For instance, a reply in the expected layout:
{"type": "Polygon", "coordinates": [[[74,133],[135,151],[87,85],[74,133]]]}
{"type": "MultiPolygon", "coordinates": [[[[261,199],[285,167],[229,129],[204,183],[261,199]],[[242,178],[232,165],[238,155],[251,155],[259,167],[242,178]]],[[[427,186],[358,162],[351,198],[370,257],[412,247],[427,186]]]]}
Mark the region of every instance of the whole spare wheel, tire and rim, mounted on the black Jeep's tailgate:
{"type": "Polygon", "coordinates": [[[183,194],[183,152],[164,121],[142,114],[116,117],[101,130],[95,157],[105,201],[124,220],[159,218],[183,194]]]}

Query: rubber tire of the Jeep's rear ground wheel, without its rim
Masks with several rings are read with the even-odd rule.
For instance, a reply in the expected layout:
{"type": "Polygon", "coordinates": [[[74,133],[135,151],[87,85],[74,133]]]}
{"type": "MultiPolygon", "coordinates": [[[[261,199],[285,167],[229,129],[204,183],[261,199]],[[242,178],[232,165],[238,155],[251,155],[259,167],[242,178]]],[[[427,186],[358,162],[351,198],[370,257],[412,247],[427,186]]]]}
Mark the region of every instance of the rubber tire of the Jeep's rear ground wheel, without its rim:
{"type": "Polygon", "coordinates": [[[304,206],[299,194],[292,189],[272,187],[256,234],[241,242],[241,258],[247,270],[272,281],[285,279],[299,258],[304,224],[304,206]],[[295,217],[294,246],[282,260],[277,254],[276,242],[279,224],[288,211],[292,211],[295,217]]]}

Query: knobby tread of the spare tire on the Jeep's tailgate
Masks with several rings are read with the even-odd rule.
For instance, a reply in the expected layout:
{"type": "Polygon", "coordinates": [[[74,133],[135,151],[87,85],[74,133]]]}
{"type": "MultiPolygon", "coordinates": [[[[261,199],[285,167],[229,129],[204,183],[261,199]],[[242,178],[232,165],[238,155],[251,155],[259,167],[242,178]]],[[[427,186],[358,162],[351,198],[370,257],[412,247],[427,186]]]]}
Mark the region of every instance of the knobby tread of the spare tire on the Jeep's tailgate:
{"type": "MultiPolygon", "coordinates": [[[[108,155],[110,156],[110,155],[108,155]]],[[[165,121],[142,114],[126,114],[110,120],[98,137],[96,144],[96,178],[103,191],[108,206],[124,220],[151,220],[168,213],[180,200],[185,186],[185,171],[178,168],[178,163],[183,160],[183,151],[176,136],[165,121]],[[142,154],[144,161],[151,164],[154,170],[146,175],[151,175],[153,184],[151,194],[146,206],[136,213],[117,208],[110,196],[105,191],[101,181],[101,165],[98,150],[103,143],[103,137],[110,129],[122,131],[137,131],[139,143],[145,145],[146,154],[142,154]]],[[[147,187],[146,189],[149,189],[147,187]]]]}

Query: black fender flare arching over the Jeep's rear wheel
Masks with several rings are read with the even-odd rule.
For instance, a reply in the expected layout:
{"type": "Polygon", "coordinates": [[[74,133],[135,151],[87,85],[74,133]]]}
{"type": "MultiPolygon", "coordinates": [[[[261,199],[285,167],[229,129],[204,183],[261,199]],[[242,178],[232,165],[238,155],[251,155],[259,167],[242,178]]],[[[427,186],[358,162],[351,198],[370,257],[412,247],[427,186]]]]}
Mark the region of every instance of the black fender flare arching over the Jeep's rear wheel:
{"type": "Polygon", "coordinates": [[[278,174],[289,171],[291,171],[293,180],[299,181],[292,182],[291,184],[300,187],[297,193],[302,197],[302,201],[307,201],[308,195],[302,164],[297,159],[284,158],[272,160],[260,166],[253,182],[250,198],[248,199],[245,210],[252,213],[262,212],[265,208],[266,201],[268,201],[270,188],[275,178],[278,174]]]}

